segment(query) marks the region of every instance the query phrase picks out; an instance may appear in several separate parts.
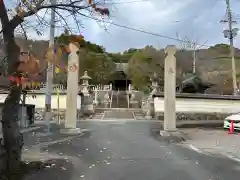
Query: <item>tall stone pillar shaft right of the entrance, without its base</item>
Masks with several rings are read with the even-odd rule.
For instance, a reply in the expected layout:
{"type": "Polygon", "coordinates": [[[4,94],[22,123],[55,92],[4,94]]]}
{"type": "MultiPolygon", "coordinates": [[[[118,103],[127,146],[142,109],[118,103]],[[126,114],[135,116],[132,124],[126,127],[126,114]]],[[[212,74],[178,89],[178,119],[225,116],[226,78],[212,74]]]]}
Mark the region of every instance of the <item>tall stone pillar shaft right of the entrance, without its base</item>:
{"type": "Polygon", "coordinates": [[[176,47],[165,49],[164,68],[164,130],[176,131],[176,47]]]}

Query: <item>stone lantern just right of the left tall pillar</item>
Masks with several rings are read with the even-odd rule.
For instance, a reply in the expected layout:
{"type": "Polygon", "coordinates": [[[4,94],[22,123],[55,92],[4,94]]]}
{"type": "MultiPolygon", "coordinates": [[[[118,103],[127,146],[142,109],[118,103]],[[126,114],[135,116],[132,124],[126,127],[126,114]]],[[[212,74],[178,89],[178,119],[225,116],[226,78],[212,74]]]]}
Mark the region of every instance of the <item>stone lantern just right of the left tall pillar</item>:
{"type": "Polygon", "coordinates": [[[94,113],[94,107],[93,107],[93,97],[89,94],[88,87],[89,87],[89,80],[92,78],[88,76],[87,71],[84,72],[84,75],[80,77],[80,81],[82,81],[81,84],[81,92],[83,94],[82,96],[82,112],[85,115],[91,115],[94,113]]]}

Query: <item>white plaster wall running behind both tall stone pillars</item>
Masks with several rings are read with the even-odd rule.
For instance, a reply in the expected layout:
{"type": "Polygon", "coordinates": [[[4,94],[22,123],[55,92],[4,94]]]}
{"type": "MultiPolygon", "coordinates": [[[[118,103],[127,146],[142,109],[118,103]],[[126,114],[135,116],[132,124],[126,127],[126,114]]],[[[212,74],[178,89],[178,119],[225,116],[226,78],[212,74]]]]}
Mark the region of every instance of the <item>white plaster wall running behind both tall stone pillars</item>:
{"type": "MultiPolygon", "coordinates": [[[[3,103],[7,94],[0,94],[0,103],[3,103]]],[[[66,108],[66,95],[60,95],[60,108],[66,108]]],[[[78,96],[78,108],[80,108],[81,98],[78,96]]],[[[36,99],[31,95],[27,96],[27,104],[34,104],[36,108],[45,107],[45,95],[38,94],[36,99]]],[[[163,98],[154,99],[154,107],[156,112],[164,111],[163,98]]],[[[57,109],[57,96],[52,95],[52,109],[57,109]]],[[[216,99],[191,99],[177,98],[177,112],[222,112],[234,113],[240,112],[240,100],[216,100],[216,99]]]]}

